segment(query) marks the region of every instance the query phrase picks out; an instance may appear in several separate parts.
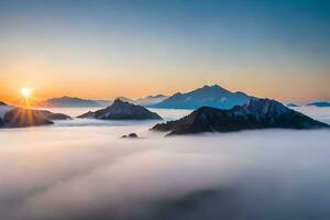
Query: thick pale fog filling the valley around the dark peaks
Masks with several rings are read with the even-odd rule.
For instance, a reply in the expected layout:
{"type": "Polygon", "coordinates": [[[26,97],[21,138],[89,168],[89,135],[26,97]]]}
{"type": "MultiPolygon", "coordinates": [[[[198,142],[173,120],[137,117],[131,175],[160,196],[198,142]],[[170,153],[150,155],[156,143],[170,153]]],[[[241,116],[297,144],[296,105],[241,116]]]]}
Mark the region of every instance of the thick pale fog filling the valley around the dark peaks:
{"type": "MultiPolygon", "coordinates": [[[[294,109],[330,123],[330,108],[294,109]]],[[[152,110],[165,120],[190,112],[152,110]]],[[[1,130],[1,219],[330,219],[329,130],[164,138],[150,131],[156,122],[1,130]],[[132,132],[140,139],[121,139],[132,132]]]]}

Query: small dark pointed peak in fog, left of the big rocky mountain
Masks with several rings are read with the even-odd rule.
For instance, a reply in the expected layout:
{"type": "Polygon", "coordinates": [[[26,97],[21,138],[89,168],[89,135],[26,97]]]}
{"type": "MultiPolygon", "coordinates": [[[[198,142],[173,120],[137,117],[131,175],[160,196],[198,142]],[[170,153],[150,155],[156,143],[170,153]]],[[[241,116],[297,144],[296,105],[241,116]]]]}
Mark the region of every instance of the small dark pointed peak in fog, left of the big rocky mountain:
{"type": "Polygon", "coordinates": [[[110,107],[96,112],[87,112],[78,118],[92,118],[103,120],[161,120],[162,118],[144,107],[116,99],[110,107]]]}

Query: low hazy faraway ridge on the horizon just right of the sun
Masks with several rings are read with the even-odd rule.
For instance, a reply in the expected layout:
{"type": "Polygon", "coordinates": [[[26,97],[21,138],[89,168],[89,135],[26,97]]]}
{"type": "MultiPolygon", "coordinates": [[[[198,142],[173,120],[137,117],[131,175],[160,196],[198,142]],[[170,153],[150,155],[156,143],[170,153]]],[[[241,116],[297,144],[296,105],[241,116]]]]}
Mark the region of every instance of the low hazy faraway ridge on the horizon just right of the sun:
{"type": "Polygon", "coordinates": [[[109,106],[111,101],[105,100],[88,100],[80,99],[77,97],[61,97],[45,100],[43,102],[36,103],[38,107],[106,107],[109,106]]]}

